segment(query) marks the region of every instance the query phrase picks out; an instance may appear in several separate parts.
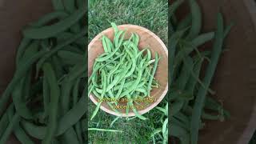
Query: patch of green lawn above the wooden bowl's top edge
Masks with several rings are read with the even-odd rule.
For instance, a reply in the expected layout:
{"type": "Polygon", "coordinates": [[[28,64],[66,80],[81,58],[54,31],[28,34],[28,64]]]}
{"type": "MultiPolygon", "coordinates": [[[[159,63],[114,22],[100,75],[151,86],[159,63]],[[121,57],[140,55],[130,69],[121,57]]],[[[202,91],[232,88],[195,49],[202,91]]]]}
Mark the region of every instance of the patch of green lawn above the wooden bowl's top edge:
{"type": "Polygon", "coordinates": [[[89,6],[89,41],[102,30],[117,25],[134,24],[146,27],[167,42],[167,0],[94,0],[89,6]]]}

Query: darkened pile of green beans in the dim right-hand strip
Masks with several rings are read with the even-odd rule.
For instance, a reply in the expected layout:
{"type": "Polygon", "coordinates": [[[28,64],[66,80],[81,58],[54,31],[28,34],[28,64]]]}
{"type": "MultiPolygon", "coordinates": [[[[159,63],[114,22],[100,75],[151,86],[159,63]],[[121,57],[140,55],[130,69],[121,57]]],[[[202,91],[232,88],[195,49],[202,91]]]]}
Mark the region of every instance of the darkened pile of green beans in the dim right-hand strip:
{"type": "Polygon", "coordinates": [[[198,131],[205,120],[224,121],[230,117],[216,101],[210,82],[222,54],[224,39],[231,26],[224,27],[222,14],[218,14],[217,29],[201,34],[202,13],[196,0],[177,0],[170,6],[170,137],[171,143],[197,144],[198,131]],[[178,21],[176,12],[188,2],[190,14],[178,21]],[[212,49],[202,49],[206,42],[213,42],[212,49]],[[206,70],[202,74],[202,65],[206,70]],[[202,81],[200,80],[201,77],[202,81]],[[178,141],[174,139],[178,138],[178,141]]]}

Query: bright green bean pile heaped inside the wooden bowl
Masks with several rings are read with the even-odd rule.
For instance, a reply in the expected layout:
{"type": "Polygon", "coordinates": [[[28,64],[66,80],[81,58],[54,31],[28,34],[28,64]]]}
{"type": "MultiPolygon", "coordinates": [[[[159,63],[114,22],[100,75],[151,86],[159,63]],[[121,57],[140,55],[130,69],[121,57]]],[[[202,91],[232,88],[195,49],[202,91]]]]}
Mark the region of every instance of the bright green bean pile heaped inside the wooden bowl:
{"type": "MultiPolygon", "coordinates": [[[[104,53],[95,59],[93,72],[88,80],[89,95],[93,93],[98,99],[118,100],[126,98],[126,114],[134,106],[134,98],[150,97],[153,87],[158,87],[154,74],[158,67],[158,53],[152,59],[150,49],[138,50],[139,36],[131,34],[125,39],[125,30],[118,30],[113,22],[114,41],[102,36],[104,53]],[[143,53],[146,53],[145,55],[143,53]]],[[[97,114],[102,101],[98,102],[91,119],[97,114]]],[[[118,102],[107,102],[110,107],[118,102]]],[[[138,118],[146,119],[132,108],[138,118]]],[[[114,109],[118,111],[118,109],[114,109]]]]}

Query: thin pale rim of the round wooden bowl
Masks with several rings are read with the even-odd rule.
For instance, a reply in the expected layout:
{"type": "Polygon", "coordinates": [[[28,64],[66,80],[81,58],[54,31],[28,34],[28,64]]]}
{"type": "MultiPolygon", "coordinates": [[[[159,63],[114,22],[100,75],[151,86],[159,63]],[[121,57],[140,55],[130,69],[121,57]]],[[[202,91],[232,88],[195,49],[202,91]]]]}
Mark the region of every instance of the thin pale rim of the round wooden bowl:
{"type": "MultiPolygon", "coordinates": [[[[145,27],[142,27],[142,26],[137,26],[137,25],[132,25],[132,24],[123,24],[123,25],[118,25],[118,28],[119,27],[125,27],[125,28],[135,28],[135,29],[139,29],[139,30],[142,30],[144,32],[146,32],[147,34],[150,34],[152,37],[154,37],[158,42],[159,44],[161,45],[161,48],[165,51],[165,54],[166,54],[166,57],[168,58],[168,50],[167,50],[167,47],[166,45],[164,44],[164,42],[162,42],[161,38],[159,38],[156,34],[154,34],[152,31],[146,29],[145,27]]],[[[110,31],[110,30],[113,30],[112,27],[110,28],[107,28],[106,30],[103,30],[102,32],[100,32],[99,34],[97,34],[89,43],[88,45],[88,54],[89,54],[89,50],[92,46],[92,44],[97,41],[99,38],[102,37],[102,34],[103,33],[106,33],[107,31],[110,31]]],[[[167,65],[168,65],[168,62],[167,62],[167,65]]],[[[89,66],[89,65],[88,65],[89,66]]],[[[168,70],[168,69],[167,69],[168,70]]],[[[88,75],[89,76],[89,75],[88,75]]],[[[166,83],[166,87],[165,87],[165,90],[163,90],[162,92],[162,95],[156,100],[156,102],[152,103],[150,106],[146,107],[146,109],[143,109],[143,110],[138,110],[138,113],[139,114],[146,114],[147,112],[149,112],[150,110],[154,109],[155,106],[158,106],[158,104],[160,102],[162,102],[162,99],[166,96],[167,94],[167,91],[168,91],[168,81],[166,83]]],[[[96,99],[98,98],[94,98],[93,94],[90,94],[89,96],[90,100],[92,102],[94,102],[94,104],[97,106],[98,102],[96,99]]],[[[129,112],[128,114],[122,114],[122,113],[117,113],[117,112],[114,112],[114,110],[109,110],[107,109],[105,106],[100,106],[100,109],[102,109],[103,111],[105,111],[106,113],[108,114],[113,114],[115,116],[118,116],[118,117],[133,117],[135,116],[134,112],[129,112]]]]}

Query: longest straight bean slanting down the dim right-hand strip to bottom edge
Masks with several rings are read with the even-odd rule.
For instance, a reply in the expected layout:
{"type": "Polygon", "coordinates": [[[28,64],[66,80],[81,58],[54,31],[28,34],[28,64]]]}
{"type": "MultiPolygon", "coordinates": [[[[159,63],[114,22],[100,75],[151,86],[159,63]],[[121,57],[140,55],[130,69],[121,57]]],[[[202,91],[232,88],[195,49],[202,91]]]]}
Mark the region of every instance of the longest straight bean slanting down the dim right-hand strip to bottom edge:
{"type": "MultiPolygon", "coordinates": [[[[207,67],[206,70],[206,76],[203,80],[203,82],[206,85],[206,88],[209,87],[211,78],[214,75],[215,67],[218,63],[219,55],[222,52],[222,42],[223,42],[223,18],[222,14],[218,14],[218,29],[215,34],[215,40],[214,40],[214,50],[212,53],[212,57],[210,58],[210,65],[207,67]]],[[[202,114],[202,107],[206,98],[206,90],[203,88],[200,88],[198,90],[197,98],[195,99],[195,104],[193,108],[192,118],[191,118],[191,124],[190,124],[190,130],[191,130],[191,142],[192,144],[198,143],[198,130],[199,130],[199,124],[201,114],[202,114]]]]}

